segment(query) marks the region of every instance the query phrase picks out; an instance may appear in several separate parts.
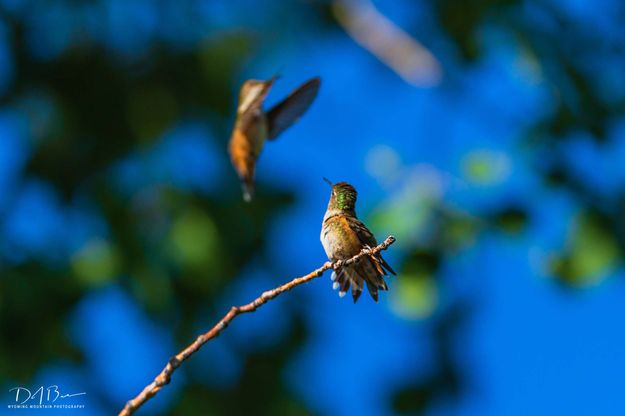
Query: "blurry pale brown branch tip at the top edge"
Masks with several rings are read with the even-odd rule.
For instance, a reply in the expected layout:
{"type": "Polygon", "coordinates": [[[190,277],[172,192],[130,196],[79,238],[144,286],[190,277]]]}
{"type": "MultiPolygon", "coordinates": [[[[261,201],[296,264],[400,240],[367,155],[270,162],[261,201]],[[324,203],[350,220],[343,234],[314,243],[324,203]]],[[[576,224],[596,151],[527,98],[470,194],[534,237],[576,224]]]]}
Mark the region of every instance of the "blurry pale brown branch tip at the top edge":
{"type": "Polygon", "coordinates": [[[419,41],[381,14],[371,0],[334,0],[335,18],[363,48],[417,87],[442,78],[438,60],[419,41]]]}

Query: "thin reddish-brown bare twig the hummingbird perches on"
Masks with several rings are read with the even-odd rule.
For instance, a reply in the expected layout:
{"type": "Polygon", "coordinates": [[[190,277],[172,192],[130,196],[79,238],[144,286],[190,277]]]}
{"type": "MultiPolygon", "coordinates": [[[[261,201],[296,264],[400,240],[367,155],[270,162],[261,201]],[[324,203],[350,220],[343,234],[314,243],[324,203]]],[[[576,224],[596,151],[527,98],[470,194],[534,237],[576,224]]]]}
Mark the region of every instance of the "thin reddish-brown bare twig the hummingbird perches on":
{"type": "Polygon", "coordinates": [[[379,253],[382,250],[386,250],[391,244],[395,242],[395,237],[389,236],[384,240],[384,242],[374,248],[365,248],[360,253],[355,255],[354,257],[347,260],[338,260],[333,263],[325,262],[323,266],[308,273],[306,276],[297,277],[291,280],[288,283],[283,284],[282,286],[278,286],[275,289],[268,290],[260,295],[258,298],[253,300],[252,302],[243,305],[243,306],[233,306],[230,311],[223,317],[217,324],[212,327],[208,332],[198,336],[196,340],[191,343],[188,347],[180,351],[177,355],[171,357],[169,362],[163,368],[163,370],[156,376],[154,381],[145,386],[145,388],[139,393],[134,399],[129,400],[124,408],[119,412],[119,416],[129,416],[132,415],[138,408],[140,408],[145,402],[150,400],[152,397],[159,392],[163,386],[169,384],[171,381],[171,375],[176,371],[176,369],[182,364],[186,359],[188,359],[191,355],[196,353],[204,344],[210,341],[213,338],[216,338],[221,331],[226,329],[230,322],[236,318],[238,315],[247,312],[254,312],[261,305],[269,302],[271,299],[275,298],[281,293],[287,292],[293,289],[295,286],[299,286],[302,283],[307,283],[312,279],[315,279],[321,276],[328,269],[337,269],[343,266],[347,266],[356,260],[358,260],[362,256],[372,255],[379,253]]]}

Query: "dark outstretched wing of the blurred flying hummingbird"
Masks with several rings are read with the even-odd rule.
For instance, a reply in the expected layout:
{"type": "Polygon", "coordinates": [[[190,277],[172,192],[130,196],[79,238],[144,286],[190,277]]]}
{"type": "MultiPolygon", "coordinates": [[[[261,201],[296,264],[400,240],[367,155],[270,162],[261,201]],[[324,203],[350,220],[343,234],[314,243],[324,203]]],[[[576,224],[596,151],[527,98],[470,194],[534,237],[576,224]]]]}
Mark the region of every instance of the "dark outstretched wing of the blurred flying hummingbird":
{"type": "Polygon", "coordinates": [[[278,137],[308,110],[317,97],[320,83],[319,77],[306,81],[267,112],[269,140],[278,137]]]}

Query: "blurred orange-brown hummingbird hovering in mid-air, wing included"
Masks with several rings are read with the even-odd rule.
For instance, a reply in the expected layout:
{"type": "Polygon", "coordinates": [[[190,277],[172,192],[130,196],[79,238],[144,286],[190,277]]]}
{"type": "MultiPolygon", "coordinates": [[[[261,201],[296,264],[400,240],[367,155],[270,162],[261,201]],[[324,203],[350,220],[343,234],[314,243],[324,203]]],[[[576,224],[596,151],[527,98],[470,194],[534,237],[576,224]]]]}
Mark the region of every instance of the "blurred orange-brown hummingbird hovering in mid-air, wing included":
{"type": "Polygon", "coordinates": [[[252,200],[256,160],[265,140],[274,140],[289,128],[310,107],[319,91],[320,79],[312,78],[300,85],[284,100],[268,111],[263,102],[276,81],[250,79],[245,81],[239,93],[239,105],[234,130],[228,150],[232,165],[241,179],[243,199],[252,200]]]}

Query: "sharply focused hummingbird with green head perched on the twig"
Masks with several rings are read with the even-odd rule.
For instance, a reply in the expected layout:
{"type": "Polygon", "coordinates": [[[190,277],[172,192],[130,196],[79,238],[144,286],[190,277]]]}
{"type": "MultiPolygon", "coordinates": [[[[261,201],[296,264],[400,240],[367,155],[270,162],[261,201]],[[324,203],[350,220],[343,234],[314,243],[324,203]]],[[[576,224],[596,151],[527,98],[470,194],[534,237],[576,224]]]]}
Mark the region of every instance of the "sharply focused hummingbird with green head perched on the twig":
{"type": "MultiPolygon", "coordinates": [[[[371,231],[356,217],[356,189],[347,182],[332,184],[330,202],[323,217],[321,244],[330,261],[349,259],[363,248],[378,245],[371,231]]],[[[378,253],[360,257],[355,263],[332,272],[333,289],[339,289],[343,297],[352,287],[354,303],[362,293],[363,284],[367,284],[369,294],[378,301],[378,290],[388,290],[384,281],[387,271],[395,271],[378,253]]]]}

